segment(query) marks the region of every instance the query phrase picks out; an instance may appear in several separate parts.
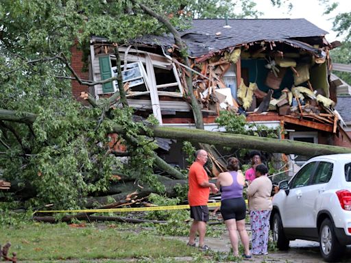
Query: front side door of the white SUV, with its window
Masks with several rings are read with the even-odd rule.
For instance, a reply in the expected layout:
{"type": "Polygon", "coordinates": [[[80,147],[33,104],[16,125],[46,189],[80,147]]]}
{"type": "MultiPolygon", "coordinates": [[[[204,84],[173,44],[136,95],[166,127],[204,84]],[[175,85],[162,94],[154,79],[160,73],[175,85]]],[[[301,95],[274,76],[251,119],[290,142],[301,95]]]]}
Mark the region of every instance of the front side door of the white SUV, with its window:
{"type": "Polygon", "coordinates": [[[317,162],[309,162],[289,182],[289,192],[282,201],[280,216],[284,227],[302,227],[304,225],[304,189],[310,184],[317,162]]]}

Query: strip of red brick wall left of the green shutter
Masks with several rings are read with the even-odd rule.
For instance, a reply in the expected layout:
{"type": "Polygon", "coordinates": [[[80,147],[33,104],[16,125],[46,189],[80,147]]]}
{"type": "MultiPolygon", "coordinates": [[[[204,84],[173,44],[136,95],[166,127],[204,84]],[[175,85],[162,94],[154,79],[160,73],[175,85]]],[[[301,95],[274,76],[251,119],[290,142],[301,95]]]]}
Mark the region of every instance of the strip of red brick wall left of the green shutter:
{"type": "MultiPolygon", "coordinates": [[[[73,45],[71,48],[72,59],[71,59],[71,66],[75,73],[84,80],[89,79],[88,71],[83,71],[84,62],[83,59],[83,52],[77,49],[76,45],[73,45]]],[[[89,92],[89,88],[86,85],[80,85],[77,81],[73,80],[71,82],[72,85],[72,95],[77,101],[82,101],[80,99],[80,92],[85,91],[89,92]]]]}

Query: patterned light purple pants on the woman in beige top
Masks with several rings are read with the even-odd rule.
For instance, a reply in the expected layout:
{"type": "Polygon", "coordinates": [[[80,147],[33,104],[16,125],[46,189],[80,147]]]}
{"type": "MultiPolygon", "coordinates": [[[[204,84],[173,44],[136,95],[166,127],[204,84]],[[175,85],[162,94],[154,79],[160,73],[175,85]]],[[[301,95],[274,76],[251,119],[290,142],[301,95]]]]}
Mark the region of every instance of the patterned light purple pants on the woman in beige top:
{"type": "Polygon", "coordinates": [[[271,210],[251,210],[252,254],[267,255],[271,210]]]}

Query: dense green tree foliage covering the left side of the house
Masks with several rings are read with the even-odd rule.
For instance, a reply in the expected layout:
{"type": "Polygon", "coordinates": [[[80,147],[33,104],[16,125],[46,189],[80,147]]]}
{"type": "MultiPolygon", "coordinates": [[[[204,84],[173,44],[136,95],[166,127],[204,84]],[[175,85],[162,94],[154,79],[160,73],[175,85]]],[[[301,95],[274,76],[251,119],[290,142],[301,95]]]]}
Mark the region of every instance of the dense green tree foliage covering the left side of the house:
{"type": "MultiPolygon", "coordinates": [[[[237,17],[233,6],[240,1],[138,2],[182,29],[191,17],[237,17]]],[[[254,4],[246,1],[242,6],[238,16],[249,14],[254,4]]],[[[32,187],[36,197],[25,205],[82,207],[86,195],[108,189],[115,169],[140,175],[136,183],[165,190],[153,175],[157,146],[150,139],[152,129],[132,121],[130,108],[110,108],[107,99],[99,99],[96,108],[77,103],[71,92],[71,68],[64,60],[70,63],[75,42],[88,52],[92,35],[121,43],[142,34],[163,34],[166,27],[128,0],[3,0],[0,23],[0,108],[19,116],[36,114],[34,123],[0,123],[1,177],[32,187]],[[108,147],[107,134],[114,125],[123,126],[126,135],[121,143],[131,153],[123,163],[108,147]],[[138,136],[139,129],[147,136],[138,136]]],[[[150,117],[149,123],[157,122],[150,117]]]]}

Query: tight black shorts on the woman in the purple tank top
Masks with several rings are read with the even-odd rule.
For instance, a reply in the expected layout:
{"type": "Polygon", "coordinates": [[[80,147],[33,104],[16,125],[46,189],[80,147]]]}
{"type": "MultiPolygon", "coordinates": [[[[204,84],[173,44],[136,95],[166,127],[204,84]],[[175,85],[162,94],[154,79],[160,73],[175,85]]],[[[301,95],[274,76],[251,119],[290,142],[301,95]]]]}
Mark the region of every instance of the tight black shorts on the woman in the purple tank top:
{"type": "Polygon", "coordinates": [[[246,215],[246,204],[243,197],[224,199],[221,201],[221,214],[223,220],[243,220],[246,215]]]}

